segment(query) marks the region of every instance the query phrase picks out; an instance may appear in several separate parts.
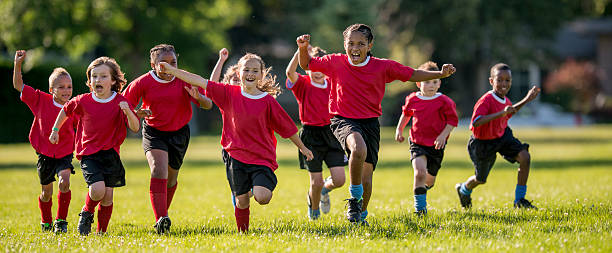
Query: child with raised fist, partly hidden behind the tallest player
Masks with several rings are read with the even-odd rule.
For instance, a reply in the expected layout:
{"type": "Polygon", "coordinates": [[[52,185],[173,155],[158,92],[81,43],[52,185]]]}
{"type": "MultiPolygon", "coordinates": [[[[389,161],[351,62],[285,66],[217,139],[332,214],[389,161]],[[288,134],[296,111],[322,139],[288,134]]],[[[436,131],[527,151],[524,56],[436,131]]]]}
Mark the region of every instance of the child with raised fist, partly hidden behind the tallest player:
{"type": "MultiPolygon", "coordinates": [[[[322,57],[326,52],[315,47],[311,48],[310,54],[312,57],[322,57]]],[[[321,212],[329,213],[329,192],[344,184],[344,166],[348,159],[329,128],[331,115],[327,109],[330,91],[328,79],[321,72],[307,71],[308,75],[298,74],[298,56],[299,52],[295,52],[287,66],[287,88],[293,92],[298,102],[302,122],[300,139],[314,155],[314,159],[305,161],[304,155],[298,153],[300,168],[307,169],[310,175],[308,218],[316,220],[321,212]],[[325,181],[322,173],[323,161],[331,174],[325,181]]]]}

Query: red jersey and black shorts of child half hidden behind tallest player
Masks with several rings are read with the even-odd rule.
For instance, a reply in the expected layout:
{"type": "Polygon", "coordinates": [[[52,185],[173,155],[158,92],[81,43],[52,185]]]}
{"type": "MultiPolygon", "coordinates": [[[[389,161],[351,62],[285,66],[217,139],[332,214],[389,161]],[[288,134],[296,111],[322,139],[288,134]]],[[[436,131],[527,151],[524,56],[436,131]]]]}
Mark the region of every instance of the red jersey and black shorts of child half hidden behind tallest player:
{"type": "Polygon", "coordinates": [[[300,139],[310,149],[314,159],[307,161],[306,157],[298,150],[300,168],[309,172],[322,172],[323,161],[328,168],[345,166],[346,155],[342,146],[331,131],[328,104],[330,85],[312,82],[310,76],[298,74],[298,80],[292,83],[287,79],[287,88],[293,92],[297,100],[302,130],[300,139]]]}

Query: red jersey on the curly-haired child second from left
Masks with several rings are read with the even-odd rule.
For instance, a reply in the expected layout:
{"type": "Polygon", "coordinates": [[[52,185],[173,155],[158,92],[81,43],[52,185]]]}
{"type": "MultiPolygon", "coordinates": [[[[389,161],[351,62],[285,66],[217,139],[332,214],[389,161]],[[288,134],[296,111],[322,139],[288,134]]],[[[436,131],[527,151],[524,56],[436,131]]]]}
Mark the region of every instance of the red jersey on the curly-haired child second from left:
{"type": "MultiPolygon", "coordinates": [[[[115,92],[107,99],[99,99],[92,93],[85,93],[66,103],[66,115],[79,117],[76,134],[77,159],[111,148],[119,154],[119,146],[125,140],[128,124],[127,116],[119,107],[121,101],[127,99],[115,92]]],[[[130,105],[130,108],[133,107],[130,105]]]]}

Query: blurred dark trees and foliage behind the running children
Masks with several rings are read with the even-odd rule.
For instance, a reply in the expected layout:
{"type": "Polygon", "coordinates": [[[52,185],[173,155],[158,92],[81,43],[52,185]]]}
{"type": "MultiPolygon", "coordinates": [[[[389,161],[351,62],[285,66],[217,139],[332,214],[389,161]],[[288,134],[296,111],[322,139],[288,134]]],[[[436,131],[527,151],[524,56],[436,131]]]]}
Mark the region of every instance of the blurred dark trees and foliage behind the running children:
{"type": "MultiPolygon", "coordinates": [[[[117,59],[129,82],[150,69],[149,49],[160,43],[175,46],[179,67],[205,77],[223,47],[230,51],[226,67],[256,53],[284,87],[297,36],[309,33],[313,45],[343,52],[342,31],[354,23],[373,28],[376,57],[412,67],[454,64],[457,73],[440,91],[457,103],[464,127],[498,62],[512,67],[512,101],[532,85],[543,90],[512,125],[612,122],[610,0],[2,0],[0,20],[0,143],[27,142],[33,118],[12,88],[17,49],[28,50],[25,83],[44,91],[62,66],[73,95],[88,92],[85,70],[105,55],[117,59]]],[[[410,82],[387,86],[383,125],[397,123],[416,89],[410,82]]],[[[278,101],[299,122],[291,92],[278,101]]],[[[220,118],[217,108],[197,110],[193,134],[220,134],[220,118]]]]}

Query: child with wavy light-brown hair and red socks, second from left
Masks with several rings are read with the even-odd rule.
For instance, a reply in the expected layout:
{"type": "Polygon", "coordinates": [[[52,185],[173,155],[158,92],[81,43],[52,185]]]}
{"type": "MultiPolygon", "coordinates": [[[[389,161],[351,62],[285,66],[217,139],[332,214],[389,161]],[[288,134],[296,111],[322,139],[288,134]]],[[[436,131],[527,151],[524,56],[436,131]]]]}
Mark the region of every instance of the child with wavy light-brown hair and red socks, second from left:
{"type": "Polygon", "coordinates": [[[129,127],[137,132],[138,117],[119,91],[126,81],[117,62],[108,57],[95,59],[87,67],[90,93],[81,94],[66,103],[57,115],[51,143],[61,140],[57,129],[68,117],[79,118],[76,138],[77,159],[89,192],[79,214],[81,235],[91,232],[91,223],[98,204],[98,233],[105,233],[113,212],[113,188],[125,185],[125,169],[119,158],[119,147],[129,127]]]}

